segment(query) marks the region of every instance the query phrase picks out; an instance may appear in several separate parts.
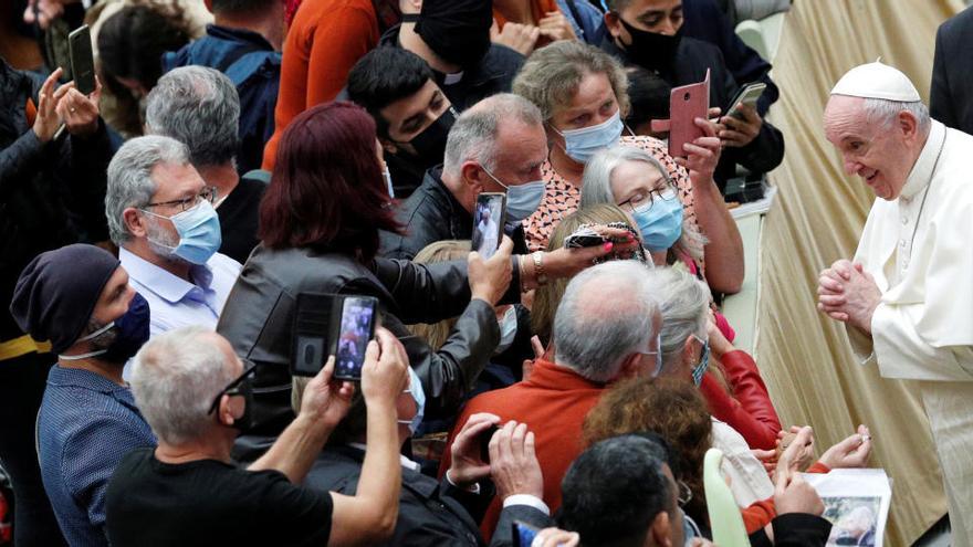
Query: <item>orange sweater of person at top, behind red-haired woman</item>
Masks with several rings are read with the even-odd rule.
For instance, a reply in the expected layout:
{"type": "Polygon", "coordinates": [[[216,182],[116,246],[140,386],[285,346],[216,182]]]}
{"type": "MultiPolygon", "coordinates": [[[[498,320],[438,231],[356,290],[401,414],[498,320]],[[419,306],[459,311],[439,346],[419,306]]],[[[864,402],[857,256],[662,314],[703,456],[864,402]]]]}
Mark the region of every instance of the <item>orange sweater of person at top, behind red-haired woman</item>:
{"type": "Polygon", "coordinates": [[[378,45],[372,0],[304,0],[284,42],[274,134],[263,149],[263,168],[273,170],[278,143],[287,124],[314,105],[333,101],[352,66],[378,45]]]}

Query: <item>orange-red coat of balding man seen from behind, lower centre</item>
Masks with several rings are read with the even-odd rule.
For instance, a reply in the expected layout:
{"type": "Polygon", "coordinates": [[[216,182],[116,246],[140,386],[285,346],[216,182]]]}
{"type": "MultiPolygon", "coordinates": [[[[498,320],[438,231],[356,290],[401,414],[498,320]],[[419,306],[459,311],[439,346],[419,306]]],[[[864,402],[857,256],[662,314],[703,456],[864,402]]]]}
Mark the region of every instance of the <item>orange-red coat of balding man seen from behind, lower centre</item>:
{"type": "MultiPolygon", "coordinates": [[[[488,391],[467,403],[449,443],[452,444],[470,415],[478,412],[496,414],[501,423],[510,420],[526,423],[529,431],[534,432],[537,461],[544,473],[544,503],[554,512],[561,507],[561,480],[582,452],[585,417],[604,391],[603,383],[592,382],[568,368],[537,359],[530,379],[506,389],[488,391]]],[[[439,467],[440,475],[449,465],[450,451],[447,450],[439,467]]],[[[500,498],[494,498],[483,517],[480,529],[488,540],[493,535],[501,509],[500,498]]]]}

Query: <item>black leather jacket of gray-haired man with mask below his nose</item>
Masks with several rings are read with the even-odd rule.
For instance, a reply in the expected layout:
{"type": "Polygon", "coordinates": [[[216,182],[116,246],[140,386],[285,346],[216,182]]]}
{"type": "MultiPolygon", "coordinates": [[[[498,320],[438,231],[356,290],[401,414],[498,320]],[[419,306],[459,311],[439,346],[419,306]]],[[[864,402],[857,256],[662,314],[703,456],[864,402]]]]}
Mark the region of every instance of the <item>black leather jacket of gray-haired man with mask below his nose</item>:
{"type": "MultiPolygon", "coordinates": [[[[473,215],[442,183],[442,166],[426,171],[422,185],[399,203],[396,217],[406,230],[404,234],[381,232],[380,254],[388,259],[411,260],[430,243],[473,236],[473,215]]],[[[514,254],[527,253],[522,224],[508,235],[514,254]]]]}

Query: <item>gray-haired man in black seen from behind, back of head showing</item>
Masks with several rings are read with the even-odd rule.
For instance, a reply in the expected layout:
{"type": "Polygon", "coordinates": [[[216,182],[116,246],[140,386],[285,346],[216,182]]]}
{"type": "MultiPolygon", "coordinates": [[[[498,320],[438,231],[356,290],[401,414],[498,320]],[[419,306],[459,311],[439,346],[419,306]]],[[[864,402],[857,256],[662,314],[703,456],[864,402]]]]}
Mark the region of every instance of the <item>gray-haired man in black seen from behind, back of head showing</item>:
{"type": "Polygon", "coordinates": [[[189,161],[216,189],[220,252],[247,262],[257,238],[260,200],[266,183],[237,171],[240,99],[233,82],[217,70],[184,66],[159,78],[148,94],[146,134],[172,137],[189,148],[189,161]]]}

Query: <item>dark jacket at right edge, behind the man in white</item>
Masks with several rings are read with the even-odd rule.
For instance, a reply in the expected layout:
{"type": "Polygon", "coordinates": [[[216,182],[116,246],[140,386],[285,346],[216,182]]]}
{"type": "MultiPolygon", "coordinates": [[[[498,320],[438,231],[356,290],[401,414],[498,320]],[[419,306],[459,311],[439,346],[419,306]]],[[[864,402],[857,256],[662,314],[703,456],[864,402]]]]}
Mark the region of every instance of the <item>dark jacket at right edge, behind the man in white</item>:
{"type": "Polygon", "coordinates": [[[973,134],[973,9],[940,25],[935,33],[932,60],[932,85],[929,90],[930,115],[948,127],[973,134]]]}

